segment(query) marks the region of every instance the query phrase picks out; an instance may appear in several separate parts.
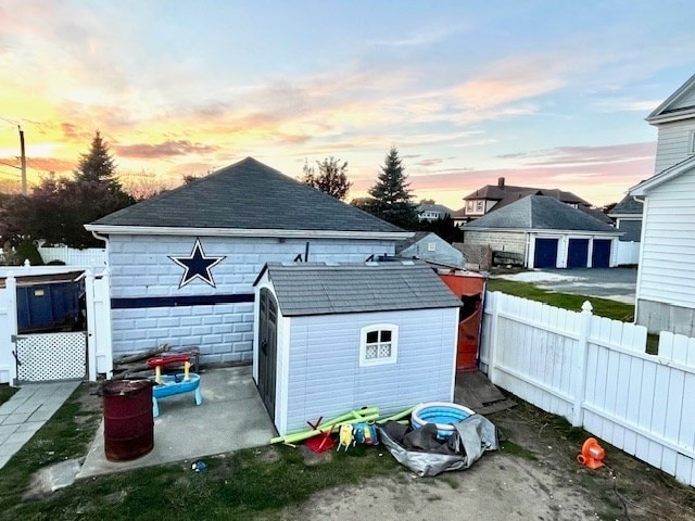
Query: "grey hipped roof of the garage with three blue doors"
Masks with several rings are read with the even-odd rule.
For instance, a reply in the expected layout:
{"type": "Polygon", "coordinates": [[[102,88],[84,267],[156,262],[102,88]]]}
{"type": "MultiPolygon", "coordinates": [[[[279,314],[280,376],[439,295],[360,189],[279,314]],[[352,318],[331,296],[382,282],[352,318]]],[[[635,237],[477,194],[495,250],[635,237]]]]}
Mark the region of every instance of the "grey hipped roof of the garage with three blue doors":
{"type": "Polygon", "coordinates": [[[464,225],[464,230],[569,230],[604,233],[620,232],[580,209],[546,195],[529,195],[464,225]]]}

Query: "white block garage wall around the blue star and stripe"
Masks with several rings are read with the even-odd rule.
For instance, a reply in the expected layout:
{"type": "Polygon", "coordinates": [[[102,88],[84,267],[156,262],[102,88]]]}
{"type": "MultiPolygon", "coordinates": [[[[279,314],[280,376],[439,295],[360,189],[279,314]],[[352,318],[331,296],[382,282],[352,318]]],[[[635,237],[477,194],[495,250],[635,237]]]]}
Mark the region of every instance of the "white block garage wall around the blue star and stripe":
{"type": "MultiPolygon", "coordinates": [[[[225,255],[212,268],[215,288],[193,280],[178,287],[184,268],[169,256],[189,256],[194,237],[113,236],[109,264],[112,298],[253,294],[252,283],[266,262],[292,262],[306,240],[201,237],[205,255],[225,255]]],[[[309,240],[311,262],[364,262],[393,255],[392,241],[309,240]]],[[[112,310],[113,352],[132,353],[161,343],[197,345],[205,364],[250,360],[253,304],[217,304],[112,310]]]]}

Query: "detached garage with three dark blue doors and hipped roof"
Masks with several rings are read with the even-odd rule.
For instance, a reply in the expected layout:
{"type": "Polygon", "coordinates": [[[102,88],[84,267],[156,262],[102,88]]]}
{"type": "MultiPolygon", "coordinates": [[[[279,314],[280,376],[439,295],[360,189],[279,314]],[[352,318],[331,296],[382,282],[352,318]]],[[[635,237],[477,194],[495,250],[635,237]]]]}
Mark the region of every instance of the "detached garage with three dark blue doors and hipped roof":
{"type": "Polygon", "coordinates": [[[464,243],[490,245],[501,264],[528,268],[614,267],[620,232],[545,195],[530,195],[464,225],[464,243]]]}

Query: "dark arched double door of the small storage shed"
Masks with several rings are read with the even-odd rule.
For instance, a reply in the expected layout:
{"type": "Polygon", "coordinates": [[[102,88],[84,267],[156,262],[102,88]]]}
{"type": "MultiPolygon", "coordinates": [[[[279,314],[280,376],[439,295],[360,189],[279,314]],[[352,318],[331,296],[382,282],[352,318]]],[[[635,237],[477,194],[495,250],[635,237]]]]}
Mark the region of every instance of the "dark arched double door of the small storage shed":
{"type": "Polygon", "coordinates": [[[278,304],[269,290],[261,289],[258,316],[258,393],[275,420],[278,304]]]}

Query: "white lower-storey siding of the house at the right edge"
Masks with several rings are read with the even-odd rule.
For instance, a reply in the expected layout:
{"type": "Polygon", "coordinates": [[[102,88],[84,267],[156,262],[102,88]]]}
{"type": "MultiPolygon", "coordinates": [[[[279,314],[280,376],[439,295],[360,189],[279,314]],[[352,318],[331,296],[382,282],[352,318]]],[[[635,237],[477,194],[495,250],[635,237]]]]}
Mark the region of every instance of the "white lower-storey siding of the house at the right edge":
{"type": "Polygon", "coordinates": [[[639,300],[695,307],[695,170],[648,193],[639,300]]]}

